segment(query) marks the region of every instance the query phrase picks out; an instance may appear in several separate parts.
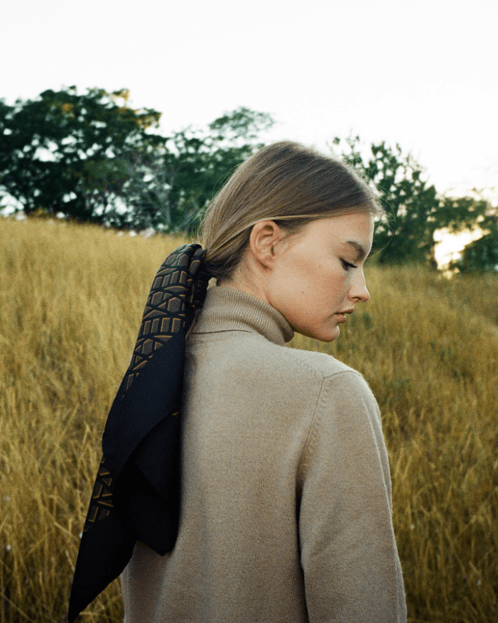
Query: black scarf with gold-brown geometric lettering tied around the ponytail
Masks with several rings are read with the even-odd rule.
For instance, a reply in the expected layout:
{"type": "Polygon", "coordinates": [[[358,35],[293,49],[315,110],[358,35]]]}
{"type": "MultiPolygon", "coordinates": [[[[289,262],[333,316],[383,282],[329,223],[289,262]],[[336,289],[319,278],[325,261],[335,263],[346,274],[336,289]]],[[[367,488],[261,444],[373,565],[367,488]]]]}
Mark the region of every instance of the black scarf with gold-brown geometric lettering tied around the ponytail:
{"type": "Polygon", "coordinates": [[[136,541],[161,555],[175,545],[185,334],[206,296],[210,275],[204,254],[199,244],[185,244],[154,278],[102,438],[102,462],[72,583],[70,623],[121,574],[136,541]]]}

